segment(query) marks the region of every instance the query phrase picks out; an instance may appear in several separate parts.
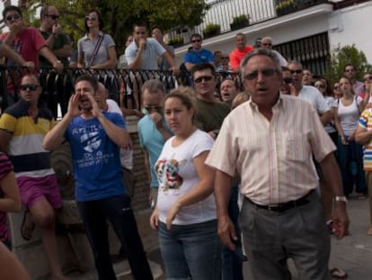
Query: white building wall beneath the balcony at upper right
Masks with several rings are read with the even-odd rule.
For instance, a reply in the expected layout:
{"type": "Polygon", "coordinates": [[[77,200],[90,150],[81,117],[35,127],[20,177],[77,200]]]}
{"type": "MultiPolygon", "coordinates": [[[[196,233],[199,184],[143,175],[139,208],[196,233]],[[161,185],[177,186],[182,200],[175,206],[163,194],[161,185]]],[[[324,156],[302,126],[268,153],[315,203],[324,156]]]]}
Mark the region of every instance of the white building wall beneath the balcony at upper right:
{"type": "MultiPolygon", "coordinates": [[[[366,54],[368,62],[372,63],[371,19],[372,1],[369,1],[331,13],[309,15],[302,20],[300,16],[297,16],[296,20],[290,21],[279,17],[265,23],[254,24],[239,32],[246,34],[248,44],[254,44],[256,38],[264,36],[270,36],[274,44],[280,44],[328,31],[331,50],[339,43],[341,46],[354,43],[359,50],[366,54]]],[[[230,53],[235,48],[234,32],[218,37],[219,39],[216,37],[203,41],[203,46],[212,52],[221,50],[225,53],[230,53]],[[221,37],[223,37],[222,40],[221,37]]],[[[176,50],[178,64],[182,63],[183,55],[189,46],[176,50]]]]}

